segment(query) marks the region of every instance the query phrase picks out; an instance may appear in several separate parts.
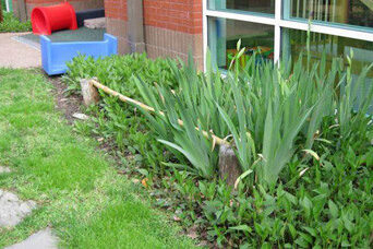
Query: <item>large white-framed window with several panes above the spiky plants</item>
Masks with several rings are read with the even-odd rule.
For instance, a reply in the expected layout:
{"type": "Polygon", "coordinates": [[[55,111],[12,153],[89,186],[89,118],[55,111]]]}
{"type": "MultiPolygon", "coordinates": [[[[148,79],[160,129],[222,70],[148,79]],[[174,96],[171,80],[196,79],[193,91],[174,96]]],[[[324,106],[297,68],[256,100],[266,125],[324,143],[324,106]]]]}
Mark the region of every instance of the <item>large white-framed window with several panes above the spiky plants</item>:
{"type": "Polygon", "coordinates": [[[275,62],[281,55],[297,59],[305,46],[309,19],[314,59],[323,48],[329,57],[344,57],[353,49],[357,70],[373,62],[373,0],[207,0],[203,4],[204,49],[210,49],[221,69],[229,66],[240,38],[246,47],[241,63],[255,49],[275,62]]]}

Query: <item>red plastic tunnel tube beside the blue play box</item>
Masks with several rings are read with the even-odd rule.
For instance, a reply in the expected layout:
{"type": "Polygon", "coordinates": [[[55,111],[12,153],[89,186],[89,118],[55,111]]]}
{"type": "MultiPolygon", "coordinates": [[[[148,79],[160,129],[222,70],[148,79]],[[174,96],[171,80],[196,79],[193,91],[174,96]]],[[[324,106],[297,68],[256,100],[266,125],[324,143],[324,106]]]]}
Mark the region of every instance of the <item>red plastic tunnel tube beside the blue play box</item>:
{"type": "Polygon", "coordinates": [[[50,35],[53,31],[76,29],[76,14],[69,3],[51,7],[36,7],[32,12],[33,33],[50,35]]]}

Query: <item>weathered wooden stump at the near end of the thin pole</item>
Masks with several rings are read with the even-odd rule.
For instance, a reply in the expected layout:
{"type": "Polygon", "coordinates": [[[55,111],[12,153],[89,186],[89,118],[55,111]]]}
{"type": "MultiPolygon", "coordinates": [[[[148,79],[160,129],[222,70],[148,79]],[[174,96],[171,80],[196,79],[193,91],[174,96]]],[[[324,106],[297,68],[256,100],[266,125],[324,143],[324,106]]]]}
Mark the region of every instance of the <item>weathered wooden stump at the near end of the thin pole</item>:
{"type": "Polygon", "coordinates": [[[234,186],[241,175],[241,167],[232,147],[221,144],[219,149],[219,177],[228,186],[234,186]]]}

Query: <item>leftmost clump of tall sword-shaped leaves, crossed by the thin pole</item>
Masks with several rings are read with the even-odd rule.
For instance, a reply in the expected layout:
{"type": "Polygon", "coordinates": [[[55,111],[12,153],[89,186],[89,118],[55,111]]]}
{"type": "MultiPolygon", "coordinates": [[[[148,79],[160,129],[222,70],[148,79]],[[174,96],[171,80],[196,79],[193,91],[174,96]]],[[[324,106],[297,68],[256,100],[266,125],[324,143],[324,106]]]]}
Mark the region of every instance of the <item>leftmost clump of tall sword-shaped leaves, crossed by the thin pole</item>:
{"type": "Polygon", "coordinates": [[[222,134],[227,127],[219,118],[215,107],[216,102],[232,104],[230,92],[218,73],[212,73],[207,78],[201,75],[194,67],[193,60],[182,69],[170,64],[177,82],[180,84],[175,90],[165,85],[152,86],[134,79],[139,91],[148,105],[155,108],[157,117],[145,112],[152,122],[152,128],[159,135],[158,141],[169,146],[180,162],[179,154],[183,154],[193,167],[188,164],[165,163],[178,168],[188,167],[191,173],[204,178],[213,178],[216,171],[217,151],[210,138],[205,138],[204,130],[212,130],[215,134],[222,134]],[[167,116],[159,115],[165,111],[167,116]],[[195,117],[204,117],[196,119],[195,117]],[[181,126],[178,119],[181,119],[181,126]],[[196,130],[195,128],[198,128],[196,130]]]}

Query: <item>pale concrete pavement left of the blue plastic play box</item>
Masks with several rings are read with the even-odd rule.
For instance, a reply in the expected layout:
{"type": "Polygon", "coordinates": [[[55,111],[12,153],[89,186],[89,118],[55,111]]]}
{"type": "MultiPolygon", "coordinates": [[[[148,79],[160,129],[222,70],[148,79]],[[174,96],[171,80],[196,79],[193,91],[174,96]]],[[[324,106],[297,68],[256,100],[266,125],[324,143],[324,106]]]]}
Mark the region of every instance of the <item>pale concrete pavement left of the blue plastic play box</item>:
{"type": "Polygon", "coordinates": [[[12,38],[23,34],[28,33],[0,33],[0,68],[41,67],[40,51],[12,38]]]}

